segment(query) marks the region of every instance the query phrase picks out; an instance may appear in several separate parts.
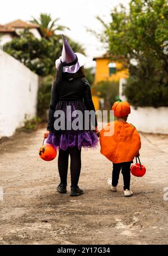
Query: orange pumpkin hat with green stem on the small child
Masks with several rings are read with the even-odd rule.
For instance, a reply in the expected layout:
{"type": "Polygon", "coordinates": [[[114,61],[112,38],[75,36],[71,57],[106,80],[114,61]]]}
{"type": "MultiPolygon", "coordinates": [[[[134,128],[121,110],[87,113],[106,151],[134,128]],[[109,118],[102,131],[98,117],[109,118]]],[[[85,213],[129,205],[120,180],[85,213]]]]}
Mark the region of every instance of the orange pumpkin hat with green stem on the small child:
{"type": "Polygon", "coordinates": [[[114,116],[122,118],[130,114],[130,105],[127,101],[115,101],[112,110],[114,110],[114,116]]]}

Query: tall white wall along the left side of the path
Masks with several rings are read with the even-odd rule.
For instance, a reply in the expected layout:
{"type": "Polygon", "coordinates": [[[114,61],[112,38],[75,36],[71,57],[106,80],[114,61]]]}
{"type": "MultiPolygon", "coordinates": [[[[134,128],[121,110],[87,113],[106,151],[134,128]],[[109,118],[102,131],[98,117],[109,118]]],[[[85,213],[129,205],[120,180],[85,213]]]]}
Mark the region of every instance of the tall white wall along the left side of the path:
{"type": "Polygon", "coordinates": [[[0,55],[0,138],[36,115],[38,75],[5,52],[0,55]]]}

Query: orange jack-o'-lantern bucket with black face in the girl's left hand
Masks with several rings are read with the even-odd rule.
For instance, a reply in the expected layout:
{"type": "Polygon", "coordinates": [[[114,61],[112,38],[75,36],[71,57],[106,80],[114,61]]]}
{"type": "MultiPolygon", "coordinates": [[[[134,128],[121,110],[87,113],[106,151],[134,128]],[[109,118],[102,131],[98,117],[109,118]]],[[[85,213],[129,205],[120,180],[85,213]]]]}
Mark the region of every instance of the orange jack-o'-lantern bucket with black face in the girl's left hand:
{"type": "Polygon", "coordinates": [[[43,146],[41,146],[39,149],[39,156],[44,161],[52,161],[57,156],[57,150],[51,144],[44,145],[44,141],[43,141],[43,146]]]}

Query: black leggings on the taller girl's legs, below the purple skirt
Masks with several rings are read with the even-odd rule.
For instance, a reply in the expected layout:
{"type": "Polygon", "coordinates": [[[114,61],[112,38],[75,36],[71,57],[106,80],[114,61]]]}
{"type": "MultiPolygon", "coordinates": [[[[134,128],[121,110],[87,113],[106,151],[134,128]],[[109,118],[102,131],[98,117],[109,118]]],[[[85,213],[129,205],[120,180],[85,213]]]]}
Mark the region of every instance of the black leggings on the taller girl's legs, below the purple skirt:
{"type": "Polygon", "coordinates": [[[81,173],[81,150],[69,147],[66,151],[59,150],[58,170],[60,183],[67,185],[68,159],[71,158],[71,187],[77,187],[81,173]]]}

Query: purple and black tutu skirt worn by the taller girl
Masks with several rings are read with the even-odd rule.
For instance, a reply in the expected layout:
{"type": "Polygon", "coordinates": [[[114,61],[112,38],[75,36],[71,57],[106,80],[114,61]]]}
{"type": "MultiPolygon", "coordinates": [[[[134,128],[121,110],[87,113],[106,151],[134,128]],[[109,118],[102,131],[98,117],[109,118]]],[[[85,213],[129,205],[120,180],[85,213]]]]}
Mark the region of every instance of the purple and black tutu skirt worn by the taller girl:
{"type": "MultiPolygon", "coordinates": [[[[86,110],[83,101],[59,101],[55,107],[55,110],[63,110],[66,119],[68,119],[67,106],[71,106],[72,111],[80,110],[82,113],[84,113],[86,110]]],[[[85,115],[83,114],[83,116],[85,115]]],[[[83,122],[85,122],[85,120],[83,120],[83,122]]],[[[46,143],[52,144],[61,150],[67,150],[68,147],[78,147],[79,150],[81,147],[96,147],[98,142],[99,138],[97,137],[96,133],[90,129],[85,130],[84,128],[77,131],[54,130],[54,132],[49,133],[49,136],[46,140],[46,143]]]]}

